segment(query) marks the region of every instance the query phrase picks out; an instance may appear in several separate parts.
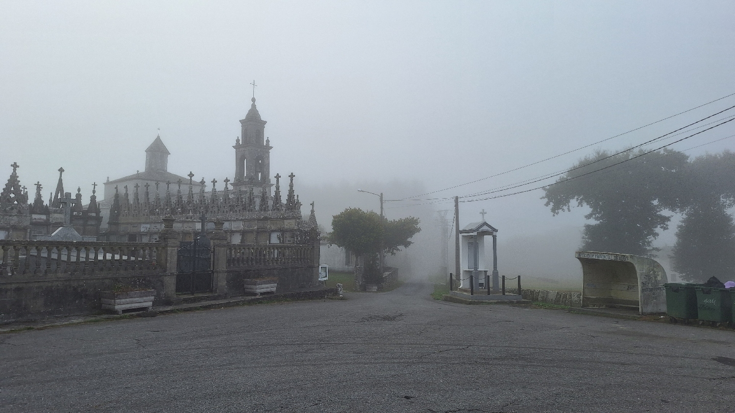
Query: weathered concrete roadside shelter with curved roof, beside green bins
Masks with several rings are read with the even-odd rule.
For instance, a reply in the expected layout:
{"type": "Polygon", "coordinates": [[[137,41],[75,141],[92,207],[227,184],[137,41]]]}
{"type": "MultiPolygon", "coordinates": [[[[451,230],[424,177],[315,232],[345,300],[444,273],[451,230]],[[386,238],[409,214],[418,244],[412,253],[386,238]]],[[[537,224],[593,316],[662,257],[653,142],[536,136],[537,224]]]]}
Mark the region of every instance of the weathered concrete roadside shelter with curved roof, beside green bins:
{"type": "Polygon", "coordinates": [[[576,252],[582,265],[582,307],[620,307],[640,315],[665,313],[666,271],[649,257],[576,252]]]}

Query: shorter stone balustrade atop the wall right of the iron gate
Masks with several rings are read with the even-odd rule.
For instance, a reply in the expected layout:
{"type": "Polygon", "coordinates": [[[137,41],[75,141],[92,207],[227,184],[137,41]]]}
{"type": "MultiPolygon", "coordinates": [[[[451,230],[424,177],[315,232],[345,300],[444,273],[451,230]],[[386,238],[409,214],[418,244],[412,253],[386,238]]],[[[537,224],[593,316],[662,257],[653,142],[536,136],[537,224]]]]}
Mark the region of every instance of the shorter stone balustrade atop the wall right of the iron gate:
{"type": "Polygon", "coordinates": [[[308,266],[312,265],[312,246],[268,245],[248,246],[229,244],[226,249],[226,268],[249,266],[308,266]]]}

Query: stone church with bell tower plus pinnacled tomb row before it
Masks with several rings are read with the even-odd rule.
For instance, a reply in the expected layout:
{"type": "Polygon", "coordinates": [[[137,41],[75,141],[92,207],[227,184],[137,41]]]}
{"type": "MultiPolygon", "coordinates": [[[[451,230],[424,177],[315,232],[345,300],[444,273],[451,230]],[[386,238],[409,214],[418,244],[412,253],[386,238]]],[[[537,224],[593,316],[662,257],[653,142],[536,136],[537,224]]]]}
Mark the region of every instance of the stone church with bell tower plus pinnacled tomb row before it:
{"type": "Polygon", "coordinates": [[[146,171],[105,183],[105,202],[112,201],[104,234],[107,241],[157,241],[165,217],[176,220],[173,230],[181,234],[182,241],[191,241],[201,232],[204,215],[204,230],[208,232],[214,230],[215,221],[224,223],[229,244],[316,242],[314,205],[309,219],[303,219],[301,202],[293,188],[295,175],[287,177],[285,200],[282,176],[270,176],[273,147],[265,137],[265,124],[253,98],[245,119],[240,120],[242,139],[238,137],[232,146],[234,179],[225,178],[221,189],[218,180],[212,179],[209,191],[205,191],[204,178],[196,182],[193,173],[183,178],[165,170],[169,153],[157,138],[146,150],[146,171]]]}

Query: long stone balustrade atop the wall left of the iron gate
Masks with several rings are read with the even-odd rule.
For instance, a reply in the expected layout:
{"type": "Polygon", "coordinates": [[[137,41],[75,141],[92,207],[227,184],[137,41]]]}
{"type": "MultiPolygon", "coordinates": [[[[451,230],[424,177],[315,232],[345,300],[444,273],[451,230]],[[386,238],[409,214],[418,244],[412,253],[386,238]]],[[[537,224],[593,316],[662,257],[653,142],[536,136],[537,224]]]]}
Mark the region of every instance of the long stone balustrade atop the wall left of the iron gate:
{"type": "Polygon", "coordinates": [[[96,241],[0,241],[0,277],[151,274],[165,271],[162,245],[96,241]]]}

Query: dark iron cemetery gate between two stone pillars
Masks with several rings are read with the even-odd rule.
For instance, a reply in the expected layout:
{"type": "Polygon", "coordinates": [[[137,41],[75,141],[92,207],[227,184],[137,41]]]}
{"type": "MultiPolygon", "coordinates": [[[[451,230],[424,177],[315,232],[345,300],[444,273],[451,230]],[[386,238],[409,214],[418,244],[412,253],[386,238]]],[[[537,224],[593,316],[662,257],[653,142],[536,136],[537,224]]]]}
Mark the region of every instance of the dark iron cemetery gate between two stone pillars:
{"type": "Polygon", "coordinates": [[[212,291],[212,244],[206,235],[181,241],[176,256],[176,293],[212,291]]]}

